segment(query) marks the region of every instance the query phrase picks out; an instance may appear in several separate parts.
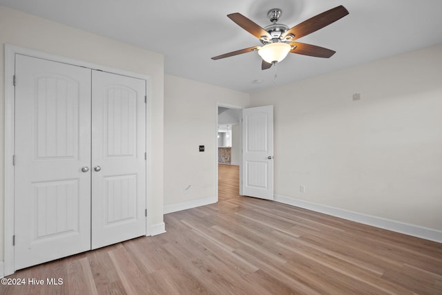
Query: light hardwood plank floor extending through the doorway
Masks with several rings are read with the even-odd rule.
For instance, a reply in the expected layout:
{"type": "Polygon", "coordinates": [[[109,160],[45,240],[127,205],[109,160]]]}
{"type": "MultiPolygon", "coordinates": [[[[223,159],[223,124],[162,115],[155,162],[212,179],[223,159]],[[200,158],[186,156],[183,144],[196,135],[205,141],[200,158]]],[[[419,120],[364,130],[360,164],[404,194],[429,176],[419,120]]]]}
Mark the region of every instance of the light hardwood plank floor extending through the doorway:
{"type": "Polygon", "coordinates": [[[63,285],[3,285],[0,294],[442,294],[437,242],[238,192],[164,220],[166,234],[8,277],[63,285]]]}

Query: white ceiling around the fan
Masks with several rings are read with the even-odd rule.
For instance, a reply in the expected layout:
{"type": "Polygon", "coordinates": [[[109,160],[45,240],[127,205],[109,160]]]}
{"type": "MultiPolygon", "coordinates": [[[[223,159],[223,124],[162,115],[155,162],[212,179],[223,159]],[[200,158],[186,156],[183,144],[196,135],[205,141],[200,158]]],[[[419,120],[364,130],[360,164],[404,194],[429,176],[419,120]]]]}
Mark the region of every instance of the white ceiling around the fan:
{"type": "Polygon", "coordinates": [[[162,53],[166,74],[251,93],[442,44],[441,0],[0,0],[0,5],[162,53]],[[211,59],[261,45],[227,18],[230,13],[265,27],[267,11],[281,8],[279,23],[292,27],[339,5],[349,15],[298,40],[336,50],[330,59],[289,54],[269,70],[261,70],[256,52],[211,59]]]}

